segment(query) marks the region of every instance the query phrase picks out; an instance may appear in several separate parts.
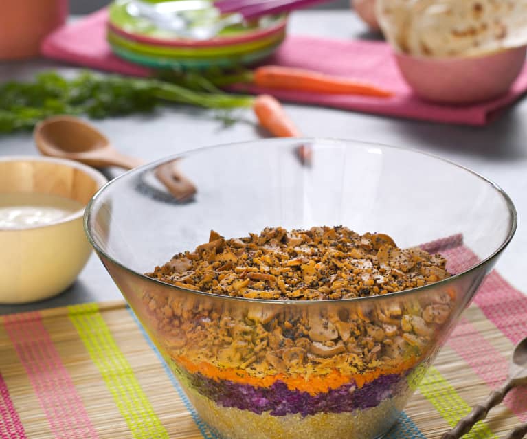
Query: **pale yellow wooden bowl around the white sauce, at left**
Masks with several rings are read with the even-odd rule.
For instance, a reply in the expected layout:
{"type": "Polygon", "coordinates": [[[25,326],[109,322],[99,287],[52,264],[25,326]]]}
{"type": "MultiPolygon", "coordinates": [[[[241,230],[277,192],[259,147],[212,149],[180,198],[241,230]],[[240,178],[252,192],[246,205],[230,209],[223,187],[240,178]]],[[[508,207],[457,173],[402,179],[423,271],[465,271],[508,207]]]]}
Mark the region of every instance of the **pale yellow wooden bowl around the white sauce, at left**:
{"type": "MultiPolygon", "coordinates": [[[[78,210],[47,225],[0,227],[0,303],[52,297],[70,286],[91,246],[82,226],[84,208],[106,183],[89,166],[49,157],[1,157],[0,201],[48,195],[74,200],[78,210]]],[[[35,201],[38,203],[38,201],[35,201]]],[[[1,206],[1,205],[0,205],[1,206]]]]}

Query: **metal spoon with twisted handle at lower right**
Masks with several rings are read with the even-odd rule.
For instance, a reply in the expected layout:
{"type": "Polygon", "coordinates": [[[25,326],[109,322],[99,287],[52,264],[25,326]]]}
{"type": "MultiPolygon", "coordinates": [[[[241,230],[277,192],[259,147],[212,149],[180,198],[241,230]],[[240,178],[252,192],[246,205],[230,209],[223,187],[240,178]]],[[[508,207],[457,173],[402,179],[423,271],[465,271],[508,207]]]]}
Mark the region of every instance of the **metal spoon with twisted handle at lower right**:
{"type": "MultiPolygon", "coordinates": [[[[503,401],[503,398],[505,398],[509,390],[524,384],[527,384],[527,337],[520,341],[514,348],[513,357],[508,366],[508,379],[504,385],[497,390],[493,390],[484,403],[475,405],[472,411],[462,418],[456,427],[453,427],[453,429],[443,434],[441,439],[458,439],[464,434],[467,434],[478,420],[485,418],[492,407],[503,401]]],[[[511,432],[511,434],[515,434],[512,438],[521,438],[523,434],[522,436],[517,436],[517,434],[525,431],[522,429],[522,426],[519,426],[516,432],[514,430],[511,432]]]]}

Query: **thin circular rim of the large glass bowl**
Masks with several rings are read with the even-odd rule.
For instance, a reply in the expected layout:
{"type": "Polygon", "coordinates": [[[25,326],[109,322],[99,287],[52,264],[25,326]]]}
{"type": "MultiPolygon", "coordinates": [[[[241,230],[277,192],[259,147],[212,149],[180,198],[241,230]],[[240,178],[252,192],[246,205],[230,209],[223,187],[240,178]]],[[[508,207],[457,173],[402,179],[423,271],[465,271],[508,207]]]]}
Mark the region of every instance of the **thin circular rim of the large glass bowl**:
{"type": "Polygon", "coordinates": [[[87,206],[85,207],[85,214],[84,214],[84,220],[83,225],[85,229],[85,234],[89,240],[89,243],[93,246],[93,248],[96,250],[98,254],[102,254],[105,258],[109,259],[113,264],[116,264],[118,267],[124,269],[124,271],[127,271],[128,273],[131,273],[133,275],[138,275],[139,278],[142,278],[144,280],[147,280],[148,282],[154,282],[155,284],[159,284],[160,286],[163,286],[164,288],[171,289],[174,292],[183,292],[183,293],[189,293],[191,295],[196,295],[197,297],[206,297],[210,300],[229,300],[234,302],[244,302],[244,303],[253,303],[253,304],[260,304],[260,305],[273,305],[273,306],[281,306],[281,305],[287,305],[287,306],[316,306],[320,305],[322,303],[324,304],[348,304],[348,303],[357,303],[357,302],[367,302],[367,301],[374,301],[374,300],[385,300],[385,299],[393,299],[395,296],[406,296],[410,295],[416,292],[425,291],[427,289],[435,289],[437,286],[442,285],[445,286],[447,284],[450,284],[451,282],[458,280],[462,277],[465,277],[467,274],[477,271],[480,269],[480,267],[489,264],[489,262],[495,260],[497,256],[499,256],[502,251],[507,247],[508,243],[511,242],[511,239],[513,238],[516,228],[517,228],[517,222],[518,222],[518,216],[516,207],[511,199],[510,196],[501,188],[500,185],[497,185],[494,181],[491,179],[488,179],[487,177],[484,177],[483,175],[479,174],[478,172],[475,172],[474,170],[471,170],[470,168],[467,168],[466,166],[462,166],[460,164],[457,164],[454,161],[451,161],[449,159],[445,159],[443,157],[440,157],[435,154],[427,153],[425,151],[421,151],[415,148],[405,148],[403,146],[392,146],[387,144],[382,144],[380,142],[365,142],[362,140],[357,139],[339,139],[336,137],[280,137],[280,138],[266,138],[266,139],[252,139],[252,140],[245,140],[241,142],[229,142],[225,144],[214,144],[209,146],[202,146],[201,148],[196,148],[192,150],[186,150],[182,151],[180,153],[175,153],[173,155],[168,155],[166,157],[162,157],[161,159],[157,159],[154,161],[149,161],[146,164],[143,164],[141,166],[137,166],[137,168],[133,168],[132,170],[128,170],[122,175],[119,175],[115,177],[115,179],[112,179],[108,181],[106,184],[100,188],[96,194],[93,195],[87,206]],[[405,289],[402,291],[396,291],[394,293],[387,293],[383,295],[372,295],[372,296],[366,296],[366,297],[350,297],[348,299],[324,299],[324,300],[273,300],[273,299],[249,299],[247,297],[232,297],[229,295],[221,295],[216,293],[205,293],[204,291],[197,291],[192,289],[183,288],[181,286],[176,286],[172,284],[168,284],[166,282],[161,282],[160,280],[150,278],[144,273],[138,273],[137,271],[126,267],[121,262],[118,262],[110,256],[106,251],[101,249],[99,245],[95,242],[93,237],[91,236],[90,227],[89,227],[89,221],[91,219],[92,214],[92,208],[93,204],[97,201],[97,199],[102,196],[103,192],[106,192],[106,189],[109,188],[113,183],[117,180],[120,180],[122,178],[126,178],[128,175],[131,174],[137,174],[140,173],[142,170],[146,170],[148,168],[153,168],[157,165],[164,164],[168,161],[173,161],[177,159],[183,159],[184,157],[188,157],[190,155],[198,155],[200,153],[205,152],[206,150],[216,150],[221,148],[229,148],[232,146],[245,146],[246,148],[250,148],[253,145],[260,144],[260,143],[267,143],[267,144],[280,144],[280,143],[287,143],[287,142],[294,142],[294,143],[317,143],[317,142],[324,142],[328,143],[331,142],[333,144],[346,144],[347,146],[351,145],[362,145],[362,146],[370,146],[370,148],[384,148],[388,150],[402,150],[408,153],[422,155],[425,157],[429,157],[434,160],[442,161],[445,164],[448,164],[450,166],[455,166],[456,168],[459,168],[461,170],[464,170],[465,172],[469,172],[473,176],[477,177],[482,181],[482,183],[486,183],[487,185],[490,185],[491,188],[493,188],[500,196],[502,196],[502,199],[504,199],[506,207],[508,208],[508,212],[511,216],[511,224],[508,229],[508,233],[502,243],[486,258],[483,260],[480,260],[477,264],[475,264],[473,267],[462,271],[461,273],[457,273],[455,275],[452,275],[449,278],[445,278],[443,280],[440,280],[438,282],[433,282],[431,284],[423,285],[423,286],[416,286],[411,289],[405,289]]]}

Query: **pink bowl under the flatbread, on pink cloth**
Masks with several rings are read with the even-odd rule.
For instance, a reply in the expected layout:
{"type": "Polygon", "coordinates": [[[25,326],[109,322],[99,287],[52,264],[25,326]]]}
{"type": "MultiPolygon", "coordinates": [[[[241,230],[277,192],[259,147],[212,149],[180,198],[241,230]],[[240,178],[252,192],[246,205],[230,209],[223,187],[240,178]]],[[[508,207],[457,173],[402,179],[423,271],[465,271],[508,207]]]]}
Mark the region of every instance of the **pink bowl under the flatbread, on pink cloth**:
{"type": "Polygon", "coordinates": [[[525,63],[527,46],[473,58],[422,58],[395,53],[399,70],[420,98],[468,104],[497,98],[511,87],[525,63]]]}

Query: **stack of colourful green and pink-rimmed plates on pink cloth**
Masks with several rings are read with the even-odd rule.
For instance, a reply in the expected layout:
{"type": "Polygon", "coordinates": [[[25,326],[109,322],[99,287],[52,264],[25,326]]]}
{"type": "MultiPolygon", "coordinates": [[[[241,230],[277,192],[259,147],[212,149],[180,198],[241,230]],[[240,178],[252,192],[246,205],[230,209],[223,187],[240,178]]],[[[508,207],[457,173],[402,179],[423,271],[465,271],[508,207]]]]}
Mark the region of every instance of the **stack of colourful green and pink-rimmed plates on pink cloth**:
{"type": "MultiPolygon", "coordinates": [[[[269,56],[285,37],[287,16],[280,14],[231,25],[208,39],[183,38],[133,14],[134,1],[117,0],[111,5],[107,38],[117,56],[148,67],[185,70],[250,65],[269,56]]],[[[207,19],[206,23],[212,23],[210,14],[207,19]]]]}

